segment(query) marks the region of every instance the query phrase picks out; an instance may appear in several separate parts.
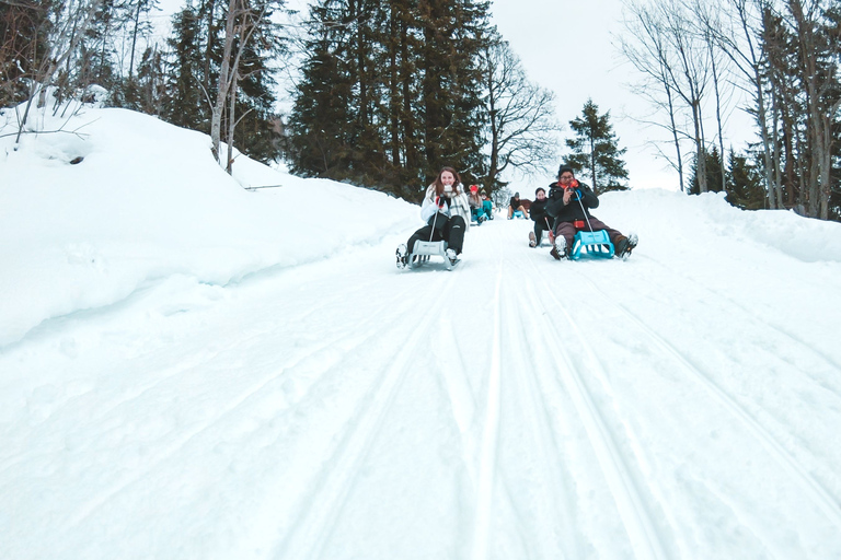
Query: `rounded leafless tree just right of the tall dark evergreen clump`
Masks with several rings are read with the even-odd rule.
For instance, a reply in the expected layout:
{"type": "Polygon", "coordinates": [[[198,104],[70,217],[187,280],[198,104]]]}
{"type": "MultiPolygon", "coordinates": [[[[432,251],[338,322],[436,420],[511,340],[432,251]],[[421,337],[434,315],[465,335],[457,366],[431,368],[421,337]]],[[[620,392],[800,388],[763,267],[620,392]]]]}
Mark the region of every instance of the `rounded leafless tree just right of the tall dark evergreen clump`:
{"type": "Polygon", "coordinates": [[[545,172],[545,162],[556,159],[561,126],[554,94],[528,80],[507,42],[491,42],[481,67],[491,150],[486,187],[496,190],[509,167],[527,175],[545,172]]]}

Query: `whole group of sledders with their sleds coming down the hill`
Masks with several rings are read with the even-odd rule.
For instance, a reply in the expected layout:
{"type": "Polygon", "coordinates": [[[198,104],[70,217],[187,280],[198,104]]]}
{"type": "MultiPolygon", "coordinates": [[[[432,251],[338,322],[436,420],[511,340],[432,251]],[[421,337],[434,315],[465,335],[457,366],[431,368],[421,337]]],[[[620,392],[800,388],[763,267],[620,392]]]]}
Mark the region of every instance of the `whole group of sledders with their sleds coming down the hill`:
{"type": "MultiPolygon", "coordinates": [[[[471,218],[476,224],[493,219],[491,201],[477,191],[479,187],[472,185],[468,195],[456,170],[443,167],[426,189],[420,205],[420,218],[426,225],[405,245],[398,247],[398,267],[419,266],[434,255],[443,257],[448,269],[456,266],[471,218]]],[[[529,246],[540,246],[546,232],[552,245],[550,255],[557,260],[585,255],[625,259],[636,247],[635,234],[623,235],[590,214],[591,208],[598,208],[599,199],[590,187],[578,183],[572,167],[562,165],[557,182],[549,185],[549,191],[539,188],[534,196],[528,210],[522,206],[515,208],[515,201],[509,208],[509,218],[520,212],[534,221],[534,231],[529,232],[529,246]]]]}

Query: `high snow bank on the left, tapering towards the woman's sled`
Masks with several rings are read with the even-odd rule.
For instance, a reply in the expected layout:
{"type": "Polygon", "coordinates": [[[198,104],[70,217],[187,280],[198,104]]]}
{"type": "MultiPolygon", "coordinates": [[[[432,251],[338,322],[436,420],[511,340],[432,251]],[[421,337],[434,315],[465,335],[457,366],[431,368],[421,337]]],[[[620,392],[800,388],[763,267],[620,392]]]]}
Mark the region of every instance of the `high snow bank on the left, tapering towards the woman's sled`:
{"type": "MultiPolygon", "coordinates": [[[[14,130],[13,115],[0,115],[0,136],[14,130]]],[[[417,220],[417,207],[382,192],[300,179],[244,155],[230,177],[206,135],[130,110],[88,107],[39,126],[64,131],[26,135],[16,151],[13,136],[0,138],[0,345],[150,281],[226,284],[417,220]],[[254,185],[283,187],[243,188],[254,185]]]]}

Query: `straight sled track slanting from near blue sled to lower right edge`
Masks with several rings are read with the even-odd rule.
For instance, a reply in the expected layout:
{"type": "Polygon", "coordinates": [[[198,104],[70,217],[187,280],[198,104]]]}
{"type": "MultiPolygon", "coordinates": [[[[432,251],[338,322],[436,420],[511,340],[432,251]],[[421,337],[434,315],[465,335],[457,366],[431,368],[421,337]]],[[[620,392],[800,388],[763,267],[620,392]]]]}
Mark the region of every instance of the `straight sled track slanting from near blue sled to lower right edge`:
{"type": "MultiPolygon", "coordinates": [[[[742,406],[740,406],[724,390],[722,390],[722,388],[718,387],[710,378],[708,375],[703,373],[696,366],[692,365],[686,358],[683,358],[683,355],[671,343],[667,342],[657,332],[652,330],[643,322],[636,318],[630,311],[624,307],[624,305],[611,299],[601,290],[601,288],[596,285],[586,276],[577,271],[575,273],[581,280],[584,280],[592,289],[594,292],[598,293],[603,301],[617,307],[629,322],[633,323],[634,326],[640,329],[641,332],[645,332],[657,348],[675,358],[694,381],[703,386],[722,406],[724,406],[727,411],[729,411],[734,417],[738,418],[771,453],[771,455],[779,462],[779,464],[785,467],[794,476],[795,479],[800,481],[800,486],[807,491],[809,495],[811,495],[811,499],[820,506],[820,509],[827,514],[832,523],[841,527],[841,508],[839,508],[839,505],[836,503],[836,500],[832,498],[832,495],[827,492],[827,490],[820,486],[817,480],[809,476],[809,474],[799,465],[799,463],[797,463],[797,460],[774,440],[773,435],[770,434],[768,430],[762,428],[762,425],[760,425],[759,422],[757,422],[757,420],[754,420],[753,417],[747,410],[745,410],[742,406]]],[[[573,328],[576,328],[572,320],[569,320],[569,323],[573,325],[573,328]]]]}

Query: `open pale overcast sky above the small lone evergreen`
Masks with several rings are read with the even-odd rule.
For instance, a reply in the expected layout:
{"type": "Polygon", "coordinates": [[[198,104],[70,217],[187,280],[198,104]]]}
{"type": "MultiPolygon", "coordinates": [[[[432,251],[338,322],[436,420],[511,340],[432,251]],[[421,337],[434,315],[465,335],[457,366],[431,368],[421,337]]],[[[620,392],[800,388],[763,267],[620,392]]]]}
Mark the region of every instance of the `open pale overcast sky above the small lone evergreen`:
{"type": "Polygon", "coordinates": [[[634,121],[650,107],[631,93],[627,84],[638,75],[613,46],[612,34],[623,32],[621,0],[494,0],[492,12],[529,79],[555,92],[565,137],[591,97],[600,113],[610,110],[620,148],[627,149],[630,185],[678,189],[677,173],[647,143],[661,132],[634,121]]]}

